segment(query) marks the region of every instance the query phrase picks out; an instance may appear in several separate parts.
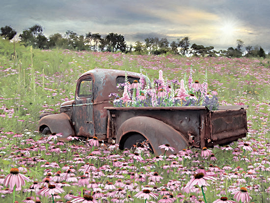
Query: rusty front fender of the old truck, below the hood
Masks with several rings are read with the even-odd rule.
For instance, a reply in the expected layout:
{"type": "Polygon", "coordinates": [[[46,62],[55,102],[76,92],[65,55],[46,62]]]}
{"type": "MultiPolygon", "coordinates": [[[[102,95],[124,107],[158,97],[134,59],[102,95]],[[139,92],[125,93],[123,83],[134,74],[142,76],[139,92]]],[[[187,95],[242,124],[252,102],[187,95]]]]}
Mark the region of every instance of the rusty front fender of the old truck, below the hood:
{"type": "Polygon", "coordinates": [[[52,133],[61,133],[59,140],[67,141],[67,137],[75,135],[70,118],[65,113],[43,116],[38,122],[38,131],[42,133],[46,127],[49,127],[52,133]]]}

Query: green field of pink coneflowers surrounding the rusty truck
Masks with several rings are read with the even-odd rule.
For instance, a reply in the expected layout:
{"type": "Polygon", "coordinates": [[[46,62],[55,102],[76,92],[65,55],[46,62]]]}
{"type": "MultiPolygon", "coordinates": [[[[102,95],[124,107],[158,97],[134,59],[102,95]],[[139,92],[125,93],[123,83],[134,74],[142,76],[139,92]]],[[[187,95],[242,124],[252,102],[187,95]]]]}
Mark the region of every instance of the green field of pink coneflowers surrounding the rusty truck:
{"type": "MultiPolygon", "coordinates": [[[[0,202],[270,202],[270,60],[133,56],[35,50],[0,40],[0,202]],[[74,99],[76,80],[93,68],[189,76],[216,89],[219,105],[248,105],[243,140],[157,156],[94,139],[63,143],[36,131],[43,111],[74,99]]],[[[168,148],[168,150],[171,150],[168,148]]]]}

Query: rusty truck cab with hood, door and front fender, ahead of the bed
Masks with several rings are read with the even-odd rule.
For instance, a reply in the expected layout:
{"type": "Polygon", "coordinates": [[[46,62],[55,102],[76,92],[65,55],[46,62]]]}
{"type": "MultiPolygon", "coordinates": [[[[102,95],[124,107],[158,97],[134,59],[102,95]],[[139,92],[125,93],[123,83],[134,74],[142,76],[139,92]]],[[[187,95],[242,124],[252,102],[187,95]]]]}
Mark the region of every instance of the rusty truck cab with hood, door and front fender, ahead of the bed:
{"type": "Polygon", "coordinates": [[[125,82],[125,75],[130,83],[140,78],[139,73],[112,69],[93,69],[83,73],[77,82],[75,99],[62,103],[60,114],[41,115],[39,132],[62,133],[63,140],[76,135],[83,138],[96,136],[108,141],[105,107],[112,106],[108,95],[119,91],[117,85],[125,82]]]}

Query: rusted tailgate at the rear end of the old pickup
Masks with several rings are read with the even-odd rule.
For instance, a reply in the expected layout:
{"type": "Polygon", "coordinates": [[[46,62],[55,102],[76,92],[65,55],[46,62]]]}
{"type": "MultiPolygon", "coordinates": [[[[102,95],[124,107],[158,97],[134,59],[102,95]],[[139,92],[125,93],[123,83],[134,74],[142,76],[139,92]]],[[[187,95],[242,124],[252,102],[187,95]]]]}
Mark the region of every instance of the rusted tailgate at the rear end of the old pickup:
{"type": "Polygon", "coordinates": [[[246,106],[227,106],[210,112],[211,140],[214,145],[243,138],[247,133],[246,106]]]}

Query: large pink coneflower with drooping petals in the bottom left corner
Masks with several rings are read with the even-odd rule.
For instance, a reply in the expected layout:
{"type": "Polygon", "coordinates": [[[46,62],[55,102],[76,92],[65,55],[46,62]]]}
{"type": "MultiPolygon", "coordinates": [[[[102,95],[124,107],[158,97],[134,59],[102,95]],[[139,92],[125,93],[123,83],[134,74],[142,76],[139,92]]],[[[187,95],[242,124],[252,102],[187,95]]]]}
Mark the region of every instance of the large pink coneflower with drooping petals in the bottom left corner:
{"type": "Polygon", "coordinates": [[[27,176],[19,173],[19,169],[11,168],[10,174],[5,177],[3,185],[5,187],[9,185],[10,190],[13,190],[16,185],[16,188],[18,188],[18,190],[21,190],[21,186],[26,184],[25,180],[30,181],[27,176]]]}

